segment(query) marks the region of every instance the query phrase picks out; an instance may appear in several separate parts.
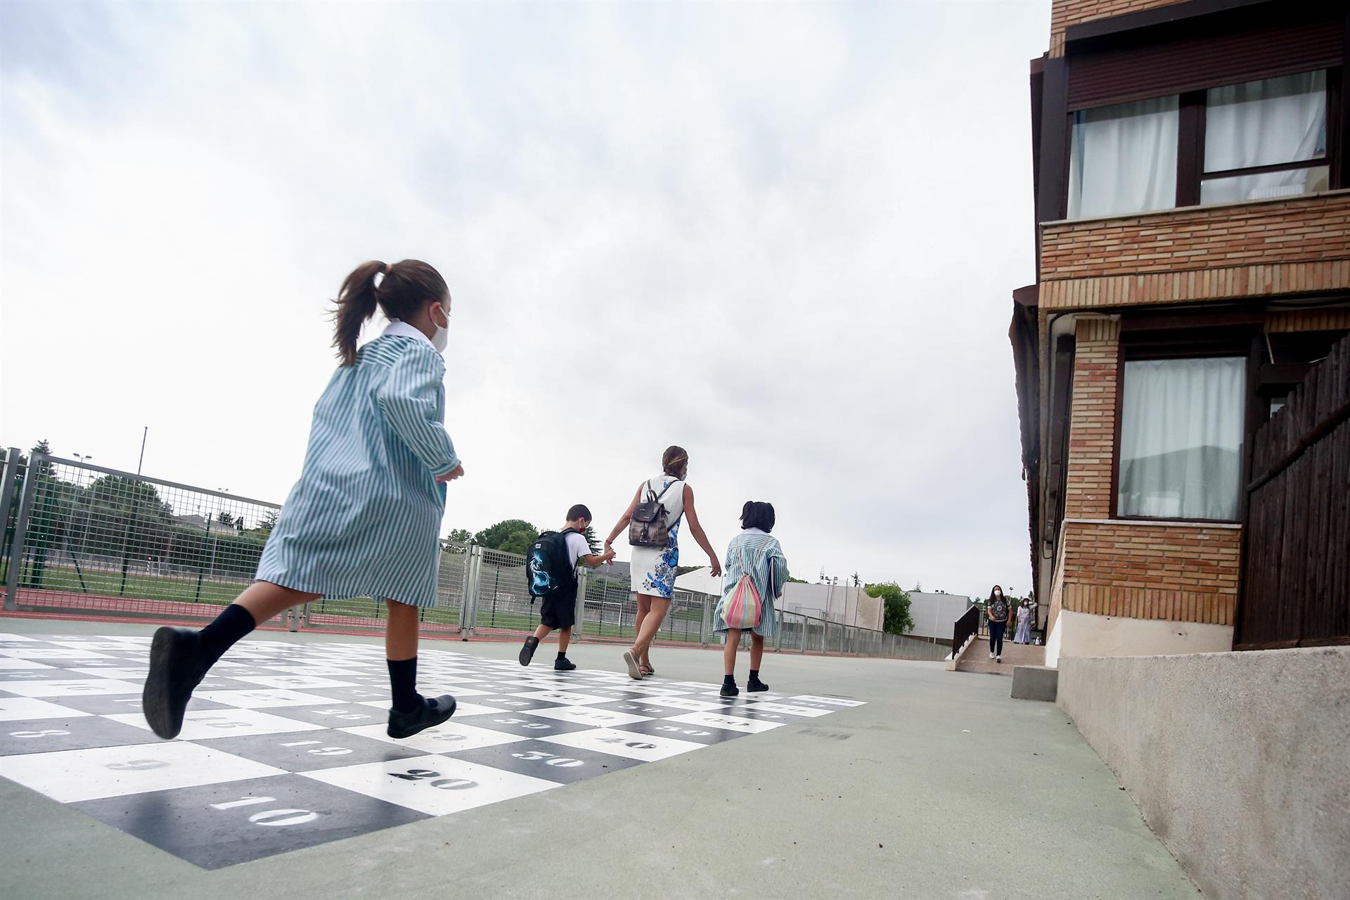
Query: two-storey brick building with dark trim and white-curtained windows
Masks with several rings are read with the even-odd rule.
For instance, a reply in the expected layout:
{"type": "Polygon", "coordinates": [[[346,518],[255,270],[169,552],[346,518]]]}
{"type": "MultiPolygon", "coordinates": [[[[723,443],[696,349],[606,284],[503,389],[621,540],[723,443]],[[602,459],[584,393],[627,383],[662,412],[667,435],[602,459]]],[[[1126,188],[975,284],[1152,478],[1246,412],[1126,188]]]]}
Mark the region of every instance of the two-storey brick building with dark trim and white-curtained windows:
{"type": "Polygon", "coordinates": [[[1228,650],[1251,436],[1350,329],[1346,4],[1054,0],[1014,291],[1046,661],[1228,650]]]}

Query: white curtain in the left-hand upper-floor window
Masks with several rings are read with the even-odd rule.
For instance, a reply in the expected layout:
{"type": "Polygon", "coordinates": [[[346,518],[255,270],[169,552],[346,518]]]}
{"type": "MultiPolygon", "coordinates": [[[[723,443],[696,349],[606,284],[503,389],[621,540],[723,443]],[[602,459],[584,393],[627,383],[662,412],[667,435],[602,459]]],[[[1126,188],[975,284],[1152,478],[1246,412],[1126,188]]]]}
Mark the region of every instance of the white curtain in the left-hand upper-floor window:
{"type": "Polygon", "coordinates": [[[1069,219],[1170,209],[1176,193],[1176,96],[1075,113],[1069,219]]]}

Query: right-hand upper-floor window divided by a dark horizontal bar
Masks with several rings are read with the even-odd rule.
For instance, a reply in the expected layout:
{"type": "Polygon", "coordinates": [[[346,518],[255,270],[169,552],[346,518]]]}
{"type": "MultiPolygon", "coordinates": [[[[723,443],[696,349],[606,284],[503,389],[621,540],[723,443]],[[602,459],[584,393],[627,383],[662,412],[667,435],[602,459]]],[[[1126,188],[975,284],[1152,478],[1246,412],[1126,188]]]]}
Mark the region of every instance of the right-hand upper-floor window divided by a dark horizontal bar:
{"type": "Polygon", "coordinates": [[[1206,93],[1202,204],[1326,190],[1326,72],[1206,93]]]}

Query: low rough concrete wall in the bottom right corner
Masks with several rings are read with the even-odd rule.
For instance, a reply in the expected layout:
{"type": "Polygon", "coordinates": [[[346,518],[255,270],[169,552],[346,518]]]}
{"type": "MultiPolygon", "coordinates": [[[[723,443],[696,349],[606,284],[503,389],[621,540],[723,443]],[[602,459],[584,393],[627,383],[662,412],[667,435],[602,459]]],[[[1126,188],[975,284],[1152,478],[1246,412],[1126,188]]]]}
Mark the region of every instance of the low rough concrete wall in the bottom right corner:
{"type": "Polygon", "coordinates": [[[1210,900],[1350,896],[1350,646],[1065,654],[1058,704],[1210,900]]]}

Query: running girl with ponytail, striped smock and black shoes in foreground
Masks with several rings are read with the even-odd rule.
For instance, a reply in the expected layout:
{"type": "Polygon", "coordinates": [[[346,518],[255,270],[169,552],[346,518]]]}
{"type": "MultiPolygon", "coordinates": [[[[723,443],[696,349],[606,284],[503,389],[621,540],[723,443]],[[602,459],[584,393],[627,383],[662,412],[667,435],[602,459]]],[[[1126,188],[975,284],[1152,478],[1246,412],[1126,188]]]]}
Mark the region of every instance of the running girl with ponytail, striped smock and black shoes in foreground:
{"type": "Polygon", "coordinates": [[[444,426],[448,328],[450,289],[427,263],[369,262],[347,275],[333,313],[340,366],[315,406],[305,466],[256,580],[200,631],[155,631],[142,706],[161,738],[178,735],[193,688],[225,650],[320,596],[385,600],[390,737],[454,715],[455,698],[417,692],[417,607],[436,604],[446,482],[464,474],[444,426]],[[358,349],[377,309],[389,327],[358,349]]]}

